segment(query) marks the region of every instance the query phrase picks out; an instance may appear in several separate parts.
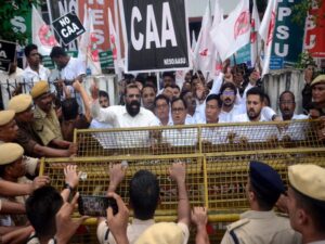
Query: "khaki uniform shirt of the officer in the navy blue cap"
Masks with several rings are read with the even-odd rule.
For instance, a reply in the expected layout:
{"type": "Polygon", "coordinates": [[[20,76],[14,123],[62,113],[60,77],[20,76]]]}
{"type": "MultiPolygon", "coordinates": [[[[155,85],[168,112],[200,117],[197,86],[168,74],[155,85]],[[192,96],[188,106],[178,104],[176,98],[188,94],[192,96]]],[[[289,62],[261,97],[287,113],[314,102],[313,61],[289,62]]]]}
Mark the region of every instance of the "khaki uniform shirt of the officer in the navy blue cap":
{"type": "Polygon", "coordinates": [[[287,218],[278,217],[273,210],[248,210],[240,220],[231,223],[221,244],[299,244],[301,235],[295,232],[287,218]]]}

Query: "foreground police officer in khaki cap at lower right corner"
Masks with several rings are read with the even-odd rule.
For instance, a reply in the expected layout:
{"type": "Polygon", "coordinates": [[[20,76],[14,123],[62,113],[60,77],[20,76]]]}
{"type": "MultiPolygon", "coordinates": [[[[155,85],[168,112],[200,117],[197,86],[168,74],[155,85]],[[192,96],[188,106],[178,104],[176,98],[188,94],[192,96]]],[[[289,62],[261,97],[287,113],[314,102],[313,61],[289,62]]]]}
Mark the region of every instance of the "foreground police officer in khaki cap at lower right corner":
{"type": "Polygon", "coordinates": [[[316,165],[289,166],[287,208],[291,227],[306,244],[325,243],[325,169],[316,165]]]}

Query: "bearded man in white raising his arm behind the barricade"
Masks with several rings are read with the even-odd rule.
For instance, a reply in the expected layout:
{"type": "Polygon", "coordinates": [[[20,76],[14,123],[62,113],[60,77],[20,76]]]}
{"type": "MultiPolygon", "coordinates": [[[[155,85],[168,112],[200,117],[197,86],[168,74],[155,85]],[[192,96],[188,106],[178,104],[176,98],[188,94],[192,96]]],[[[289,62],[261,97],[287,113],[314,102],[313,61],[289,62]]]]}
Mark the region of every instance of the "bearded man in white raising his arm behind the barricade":
{"type": "Polygon", "coordinates": [[[156,116],[148,110],[141,107],[141,92],[136,85],[126,87],[125,106],[115,105],[101,108],[99,92],[95,85],[92,86],[91,115],[102,123],[109,123],[114,128],[157,126],[156,116]]]}

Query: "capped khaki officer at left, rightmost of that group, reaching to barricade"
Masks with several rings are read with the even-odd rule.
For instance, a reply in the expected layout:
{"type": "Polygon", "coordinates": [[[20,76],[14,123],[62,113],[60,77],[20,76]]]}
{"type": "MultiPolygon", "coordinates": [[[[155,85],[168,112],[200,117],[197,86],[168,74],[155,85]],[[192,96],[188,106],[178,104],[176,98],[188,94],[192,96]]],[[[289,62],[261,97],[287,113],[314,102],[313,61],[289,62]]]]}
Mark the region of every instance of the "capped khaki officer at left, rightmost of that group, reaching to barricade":
{"type": "Polygon", "coordinates": [[[42,144],[58,149],[68,149],[72,145],[72,142],[63,140],[48,82],[37,82],[32,87],[30,95],[36,104],[32,129],[41,140],[42,144]]]}

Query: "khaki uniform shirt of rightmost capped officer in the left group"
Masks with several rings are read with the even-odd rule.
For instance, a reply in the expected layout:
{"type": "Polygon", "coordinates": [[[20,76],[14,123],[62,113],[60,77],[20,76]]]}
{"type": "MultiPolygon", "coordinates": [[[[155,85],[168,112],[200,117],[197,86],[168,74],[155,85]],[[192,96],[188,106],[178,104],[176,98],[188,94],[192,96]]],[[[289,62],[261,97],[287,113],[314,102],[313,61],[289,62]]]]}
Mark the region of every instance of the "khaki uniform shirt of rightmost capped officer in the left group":
{"type": "Polygon", "coordinates": [[[39,106],[36,106],[34,119],[32,129],[43,145],[48,145],[53,139],[63,140],[60,123],[53,107],[47,114],[39,106]]]}

